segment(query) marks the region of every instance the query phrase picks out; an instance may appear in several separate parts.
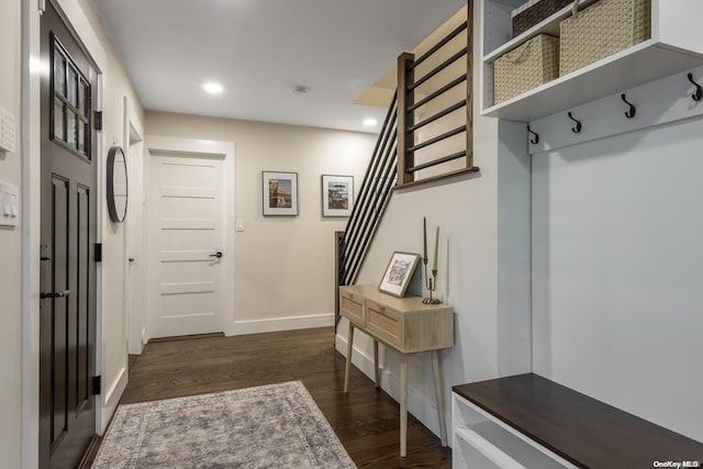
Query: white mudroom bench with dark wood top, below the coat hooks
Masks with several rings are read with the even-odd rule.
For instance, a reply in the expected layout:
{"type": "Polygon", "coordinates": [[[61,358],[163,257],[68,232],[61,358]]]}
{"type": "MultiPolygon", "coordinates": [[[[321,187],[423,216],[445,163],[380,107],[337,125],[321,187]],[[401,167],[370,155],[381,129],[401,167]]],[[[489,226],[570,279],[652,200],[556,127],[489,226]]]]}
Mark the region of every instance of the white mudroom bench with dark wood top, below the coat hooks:
{"type": "Polygon", "coordinates": [[[451,398],[455,468],[703,467],[703,444],[534,373],[451,398]]]}

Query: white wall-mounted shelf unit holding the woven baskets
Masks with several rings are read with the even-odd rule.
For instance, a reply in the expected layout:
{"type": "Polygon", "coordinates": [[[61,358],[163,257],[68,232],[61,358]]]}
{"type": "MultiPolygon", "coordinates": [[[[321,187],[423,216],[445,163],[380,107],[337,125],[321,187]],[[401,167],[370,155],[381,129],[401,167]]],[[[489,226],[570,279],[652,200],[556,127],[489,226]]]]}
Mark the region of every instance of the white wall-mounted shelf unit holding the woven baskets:
{"type": "Polygon", "coordinates": [[[703,64],[703,35],[694,20],[703,16],[703,2],[651,0],[650,40],[493,105],[493,62],[537,34],[558,35],[559,22],[571,14],[571,8],[505,40],[512,31],[507,11],[515,0],[481,1],[481,115],[529,122],[703,64]]]}

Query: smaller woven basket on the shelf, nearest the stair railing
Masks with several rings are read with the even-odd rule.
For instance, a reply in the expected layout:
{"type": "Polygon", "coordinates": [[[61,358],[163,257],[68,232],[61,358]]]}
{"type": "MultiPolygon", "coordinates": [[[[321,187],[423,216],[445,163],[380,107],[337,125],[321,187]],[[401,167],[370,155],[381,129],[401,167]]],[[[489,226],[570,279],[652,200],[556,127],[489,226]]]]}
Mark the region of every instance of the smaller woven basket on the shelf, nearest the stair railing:
{"type": "Polygon", "coordinates": [[[493,64],[494,104],[559,76],[559,38],[539,34],[493,64]]]}

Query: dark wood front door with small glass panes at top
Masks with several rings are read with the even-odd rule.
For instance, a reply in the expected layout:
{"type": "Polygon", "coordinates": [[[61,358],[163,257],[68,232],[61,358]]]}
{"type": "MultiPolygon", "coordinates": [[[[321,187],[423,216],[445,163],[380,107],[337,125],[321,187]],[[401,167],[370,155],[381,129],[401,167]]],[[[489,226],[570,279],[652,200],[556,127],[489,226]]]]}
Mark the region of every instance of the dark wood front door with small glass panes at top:
{"type": "Polygon", "coordinates": [[[40,467],[75,468],[96,431],[97,74],[52,1],[42,63],[40,467]]]}

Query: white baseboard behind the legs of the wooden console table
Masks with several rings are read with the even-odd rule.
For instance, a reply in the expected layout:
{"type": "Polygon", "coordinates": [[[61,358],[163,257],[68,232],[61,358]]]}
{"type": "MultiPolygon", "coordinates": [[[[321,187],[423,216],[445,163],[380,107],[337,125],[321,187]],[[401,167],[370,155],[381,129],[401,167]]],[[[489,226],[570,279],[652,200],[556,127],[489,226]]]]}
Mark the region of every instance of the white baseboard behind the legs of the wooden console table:
{"type": "MultiPolygon", "coordinates": [[[[369,339],[369,342],[372,342],[369,339]]],[[[364,375],[370,380],[373,380],[373,356],[367,354],[362,349],[357,348],[356,340],[354,340],[354,347],[352,348],[352,364],[356,366],[364,375]]],[[[381,345],[381,347],[383,347],[381,345]]],[[[347,355],[347,338],[335,335],[335,349],[346,357],[347,355]]],[[[394,350],[391,353],[395,353],[394,350]]],[[[372,351],[371,351],[372,354],[372,351]]],[[[398,371],[398,370],[397,370],[398,371]]],[[[395,402],[400,402],[400,376],[393,372],[389,368],[383,368],[381,362],[380,373],[381,389],[386,391],[395,402]]],[[[449,411],[450,405],[445,405],[449,411]]],[[[445,420],[447,423],[447,432],[451,428],[451,415],[447,414],[445,409],[445,420]]],[[[415,418],[417,418],[424,426],[426,426],[432,433],[439,437],[439,422],[437,421],[437,404],[434,394],[424,395],[420,391],[408,387],[408,412],[410,412],[415,418]]],[[[450,437],[447,437],[447,443],[451,445],[450,437]]]]}

